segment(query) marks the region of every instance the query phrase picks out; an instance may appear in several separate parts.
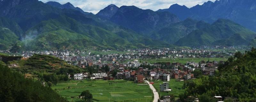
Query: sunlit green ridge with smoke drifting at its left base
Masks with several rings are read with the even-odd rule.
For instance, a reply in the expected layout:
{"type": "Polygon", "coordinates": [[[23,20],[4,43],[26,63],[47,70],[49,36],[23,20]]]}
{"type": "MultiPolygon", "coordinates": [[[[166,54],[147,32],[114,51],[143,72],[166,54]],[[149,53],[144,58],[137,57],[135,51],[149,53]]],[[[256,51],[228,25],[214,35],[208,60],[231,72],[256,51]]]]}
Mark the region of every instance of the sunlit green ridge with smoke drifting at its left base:
{"type": "Polygon", "coordinates": [[[115,26],[112,31],[101,27],[86,25],[67,16],[42,21],[29,29],[24,39],[26,49],[83,49],[83,48],[147,48],[164,45],[138,33],[115,26]],[[30,45],[29,43],[34,43],[30,45]]]}

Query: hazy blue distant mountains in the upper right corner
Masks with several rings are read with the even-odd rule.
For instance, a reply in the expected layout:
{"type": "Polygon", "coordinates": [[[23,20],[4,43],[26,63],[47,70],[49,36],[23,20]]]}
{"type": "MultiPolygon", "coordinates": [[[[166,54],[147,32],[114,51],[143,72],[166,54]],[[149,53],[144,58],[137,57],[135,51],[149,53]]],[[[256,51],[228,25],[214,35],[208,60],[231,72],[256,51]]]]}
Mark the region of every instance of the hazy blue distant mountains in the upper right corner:
{"type": "Polygon", "coordinates": [[[246,28],[256,31],[256,1],[255,0],[216,0],[205,2],[188,8],[185,5],[173,4],[168,11],[177,15],[181,20],[192,18],[213,23],[219,18],[232,20],[246,28]]]}

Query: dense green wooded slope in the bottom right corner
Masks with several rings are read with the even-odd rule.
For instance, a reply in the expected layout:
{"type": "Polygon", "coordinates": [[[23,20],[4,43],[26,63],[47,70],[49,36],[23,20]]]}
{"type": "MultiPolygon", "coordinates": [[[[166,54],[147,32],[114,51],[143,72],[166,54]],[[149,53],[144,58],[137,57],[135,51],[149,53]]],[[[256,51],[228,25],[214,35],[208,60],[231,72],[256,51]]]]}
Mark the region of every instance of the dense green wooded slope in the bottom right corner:
{"type": "MultiPolygon", "coordinates": [[[[224,64],[220,64],[214,76],[200,76],[187,81],[187,90],[179,101],[191,102],[198,97],[200,101],[216,102],[213,96],[231,97],[239,102],[256,102],[256,49],[237,52],[224,64]]],[[[233,102],[232,99],[224,101],[233,102]]]]}

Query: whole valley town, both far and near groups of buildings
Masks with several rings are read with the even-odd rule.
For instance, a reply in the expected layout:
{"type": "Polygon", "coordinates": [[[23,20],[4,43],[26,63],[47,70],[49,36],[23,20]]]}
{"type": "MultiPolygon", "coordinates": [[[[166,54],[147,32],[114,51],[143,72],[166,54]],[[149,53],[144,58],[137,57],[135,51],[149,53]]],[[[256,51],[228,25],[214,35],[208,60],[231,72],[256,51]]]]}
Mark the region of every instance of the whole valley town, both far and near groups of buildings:
{"type": "MultiPolygon", "coordinates": [[[[223,47],[221,47],[223,48],[223,47]]],[[[229,47],[230,48],[230,47],[229,47]]],[[[155,80],[162,81],[159,84],[159,92],[172,91],[169,81],[183,82],[193,80],[199,72],[204,76],[214,76],[219,64],[224,64],[226,57],[234,55],[235,52],[225,50],[205,49],[133,49],[118,51],[123,53],[102,50],[98,53],[89,51],[23,51],[20,53],[24,58],[34,54],[52,55],[68,62],[70,65],[79,67],[86,71],[76,74],[68,74],[70,80],[127,80],[138,84],[149,81],[154,84],[155,80]],[[99,53],[100,52],[100,53],[99,53]],[[109,52],[109,53],[108,53],[109,52]],[[111,52],[111,53],[110,53],[111,52]],[[179,62],[178,59],[194,58],[198,61],[179,62]],[[201,60],[201,58],[219,59],[218,61],[201,60]],[[144,59],[144,60],[143,60],[144,59]],[[145,59],[153,60],[147,62],[145,59]],[[167,59],[169,62],[154,62],[156,59],[167,59]],[[172,60],[171,60],[172,59],[172,60]],[[92,70],[89,72],[89,68],[92,70]]],[[[1,53],[8,53],[1,51],[1,53]]],[[[13,55],[15,56],[15,55],[13,55]]],[[[15,66],[15,65],[13,65],[15,66]]],[[[160,102],[172,102],[170,96],[162,96],[160,102]]],[[[221,102],[221,96],[216,96],[221,102]]],[[[197,98],[196,98],[197,99],[197,98]]],[[[198,102],[199,100],[195,100],[198,102]]]]}

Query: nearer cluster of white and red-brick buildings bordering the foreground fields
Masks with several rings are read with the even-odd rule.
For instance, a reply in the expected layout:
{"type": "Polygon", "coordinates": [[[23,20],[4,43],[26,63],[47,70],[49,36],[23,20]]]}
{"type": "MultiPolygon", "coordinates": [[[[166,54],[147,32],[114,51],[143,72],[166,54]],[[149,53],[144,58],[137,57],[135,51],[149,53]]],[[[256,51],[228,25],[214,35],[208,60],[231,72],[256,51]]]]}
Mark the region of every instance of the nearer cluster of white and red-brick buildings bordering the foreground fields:
{"type": "MultiPolygon", "coordinates": [[[[184,81],[195,78],[194,74],[191,72],[195,69],[200,69],[204,75],[213,76],[216,69],[218,69],[218,64],[224,63],[223,61],[217,62],[205,62],[201,61],[199,63],[196,62],[187,62],[186,64],[181,64],[179,62],[166,63],[166,66],[170,66],[167,68],[160,68],[161,65],[155,64],[146,64],[153,67],[152,69],[148,68],[138,68],[140,62],[135,60],[134,62],[130,62],[131,65],[136,66],[137,70],[128,69],[130,67],[123,66],[121,68],[116,68],[113,64],[107,64],[110,67],[110,71],[114,69],[118,69],[116,76],[112,76],[109,73],[93,73],[90,76],[91,79],[104,79],[104,80],[113,80],[113,79],[125,79],[125,80],[134,80],[138,83],[143,83],[144,79],[147,80],[162,80],[162,81],[170,81],[170,79],[175,79],[176,81],[184,81]],[[158,66],[158,67],[157,67],[158,66]]],[[[141,63],[144,65],[144,63],[141,63]]],[[[88,73],[80,73],[75,74],[75,80],[82,80],[88,77],[88,73]]]]}

